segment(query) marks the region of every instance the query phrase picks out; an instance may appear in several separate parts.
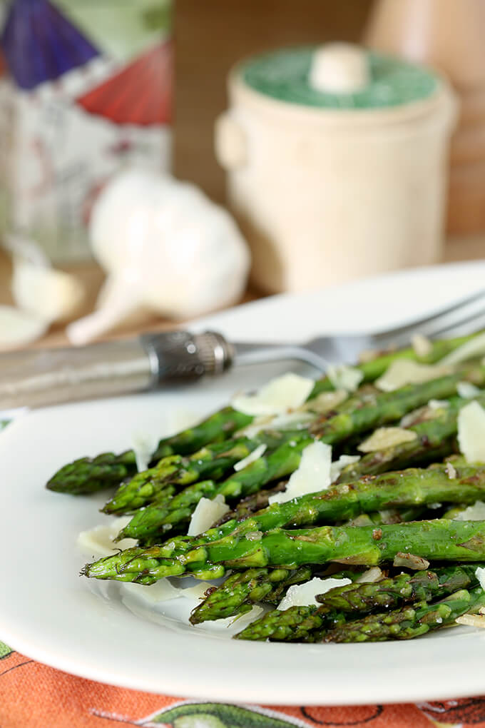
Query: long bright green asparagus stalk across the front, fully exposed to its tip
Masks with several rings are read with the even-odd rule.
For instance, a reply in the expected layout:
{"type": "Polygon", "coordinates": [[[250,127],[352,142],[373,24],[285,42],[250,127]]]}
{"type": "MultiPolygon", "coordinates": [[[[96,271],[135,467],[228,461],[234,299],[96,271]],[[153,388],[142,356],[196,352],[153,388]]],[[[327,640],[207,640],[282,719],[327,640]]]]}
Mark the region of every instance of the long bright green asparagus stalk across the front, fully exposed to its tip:
{"type": "Polygon", "coordinates": [[[297,569],[328,562],[374,566],[393,561],[396,555],[414,555],[428,561],[485,561],[485,521],[437,518],[377,528],[322,526],[273,529],[266,534],[249,531],[206,543],[179,558],[167,558],[164,545],[127,549],[87,564],[82,574],[151,584],[188,569],[204,578],[205,573],[223,576],[224,568],[297,569]],[[220,566],[224,568],[218,569],[220,566]]]}

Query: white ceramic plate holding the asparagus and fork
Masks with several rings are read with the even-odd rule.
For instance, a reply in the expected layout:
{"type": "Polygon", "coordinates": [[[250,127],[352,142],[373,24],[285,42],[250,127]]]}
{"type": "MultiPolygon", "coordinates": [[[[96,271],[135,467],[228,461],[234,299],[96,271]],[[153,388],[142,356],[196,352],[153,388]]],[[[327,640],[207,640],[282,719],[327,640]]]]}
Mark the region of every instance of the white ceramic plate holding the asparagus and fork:
{"type": "MultiPolygon", "coordinates": [[[[483,285],[484,263],[421,269],[302,296],[277,296],[199,321],[238,339],[305,339],[401,323],[483,285]]],[[[444,630],[388,644],[231,641],[220,625],[192,628],[194,601],[144,609],[78,576],[79,531],[103,521],[100,496],[63,496],[44,483],[82,455],[121,450],[134,432],[169,434],[236,389],[283,365],[234,371],[177,392],[120,397],[20,417],[0,435],[0,637],[55,668],[169,695],[269,704],[353,704],[476,695],[485,690],[485,633],[444,630]]],[[[238,629],[240,626],[238,625],[238,629]]],[[[233,628],[232,631],[236,631],[233,628]]]]}

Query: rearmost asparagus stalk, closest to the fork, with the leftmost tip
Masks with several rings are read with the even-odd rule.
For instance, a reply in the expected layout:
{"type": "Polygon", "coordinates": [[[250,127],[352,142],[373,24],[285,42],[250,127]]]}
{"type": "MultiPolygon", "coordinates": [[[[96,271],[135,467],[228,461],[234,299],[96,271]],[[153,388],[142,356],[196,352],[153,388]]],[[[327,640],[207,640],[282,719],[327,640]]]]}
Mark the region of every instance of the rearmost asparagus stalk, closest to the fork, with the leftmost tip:
{"type": "MultiPolygon", "coordinates": [[[[358,365],[363,375],[363,381],[374,381],[393,361],[398,359],[412,359],[422,363],[432,364],[454,351],[457,347],[473,339],[477,334],[461,336],[456,339],[434,341],[430,351],[424,357],[418,357],[414,349],[401,349],[397,352],[387,352],[366,363],[358,365]]],[[[333,389],[328,377],[316,381],[309,399],[317,397],[321,392],[333,389]]],[[[169,455],[188,455],[196,452],[209,443],[228,439],[236,430],[250,424],[254,418],[250,415],[235,411],[228,406],[215,412],[195,427],[159,441],[156,451],[151,457],[153,466],[163,457],[169,455]]],[[[76,461],[60,468],[47,483],[47,488],[53,491],[71,494],[84,494],[111,487],[125,478],[135,475],[136,458],[132,450],[121,454],[104,453],[95,458],[79,458],[76,461]]]]}

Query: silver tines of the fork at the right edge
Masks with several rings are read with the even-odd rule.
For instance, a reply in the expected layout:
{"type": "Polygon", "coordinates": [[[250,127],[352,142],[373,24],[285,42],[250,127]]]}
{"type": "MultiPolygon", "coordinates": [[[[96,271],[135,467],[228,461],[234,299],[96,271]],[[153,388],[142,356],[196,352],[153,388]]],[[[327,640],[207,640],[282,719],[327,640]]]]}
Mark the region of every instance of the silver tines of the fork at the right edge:
{"type": "Polygon", "coordinates": [[[485,314],[485,290],[473,293],[472,296],[457,301],[452,306],[446,306],[445,309],[427,316],[425,318],[414,320],[412,323],[404,326],[398,326],[390,331],[382,331],[374,335],[374,341],[382,347],[389,344],[396,346],[404,346],[409,344],[409,339],[415,333],[421,333],[423,336],[433,338],[442,336],[445,333],[451,335],[458,331],[459,327],[468,326],[468,333],[473,330],[477,331],[479,317],[485,314]]]}

